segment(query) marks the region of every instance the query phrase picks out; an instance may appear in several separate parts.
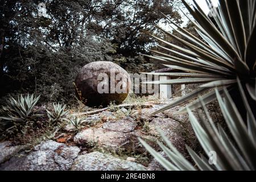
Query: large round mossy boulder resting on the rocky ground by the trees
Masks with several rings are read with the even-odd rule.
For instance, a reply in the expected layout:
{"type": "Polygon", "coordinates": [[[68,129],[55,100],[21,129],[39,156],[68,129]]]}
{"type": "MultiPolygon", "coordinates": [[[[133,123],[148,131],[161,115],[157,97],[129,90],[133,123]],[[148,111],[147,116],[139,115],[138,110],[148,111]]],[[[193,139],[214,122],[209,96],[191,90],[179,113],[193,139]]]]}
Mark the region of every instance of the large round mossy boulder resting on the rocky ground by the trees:
{"type": "Polygon", "coordinates": [[[86,106],[121,104],[130,89],[130,77],[125,69],[109,61],[86,64],[75,80],[76,96],[86,106]]]}

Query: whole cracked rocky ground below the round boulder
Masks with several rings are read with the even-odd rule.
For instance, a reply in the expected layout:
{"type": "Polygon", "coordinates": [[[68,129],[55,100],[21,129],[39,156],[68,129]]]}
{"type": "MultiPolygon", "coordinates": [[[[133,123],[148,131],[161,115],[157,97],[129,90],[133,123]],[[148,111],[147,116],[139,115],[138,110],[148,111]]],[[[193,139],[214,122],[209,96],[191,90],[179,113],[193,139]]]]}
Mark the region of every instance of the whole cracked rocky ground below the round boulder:
{"type": "Polygon", "coordinates": [[[139,143],[138,137],[160,152],[156,127],[185,154],[193,139],[186,114],[174,115],[180,107],[151,115],[166,102],[109,107],[86,115],[86,125],[75,132],[67,125],[59,137],[45,139],[27,150],[10,141],[0,143],[0,170],[162,170],[139,143]]]}

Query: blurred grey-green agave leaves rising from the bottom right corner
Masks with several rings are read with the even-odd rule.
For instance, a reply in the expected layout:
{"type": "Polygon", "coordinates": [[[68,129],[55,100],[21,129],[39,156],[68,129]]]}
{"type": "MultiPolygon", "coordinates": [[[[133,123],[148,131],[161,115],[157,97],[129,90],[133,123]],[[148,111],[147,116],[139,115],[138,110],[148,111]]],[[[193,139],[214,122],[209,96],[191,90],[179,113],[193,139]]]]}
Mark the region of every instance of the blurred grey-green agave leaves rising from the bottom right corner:
{"type": "MultiPolygon", "coordinates": [[[[245,91],[242,88],[240,80],[238,80],[241,96],[243,98],[244,106],[249,108],[249,103],[245,96],[245,91]]],[[[256,87],[255,87],[256,89],[256,87]]],[[[187,107],[189,119],[191,121],[193,130],[196,137],[203,147],[205,154],[216,155],[216,158],[212,156],[213,160],[207,159],[204,155],[197,155],[195,151],[187,146],[187,150],[195,162],[196,166],[184,158],[179,151],[171,144],[171,142],[163,135],[162,131],[159,131],[164,142],[158,142],[159,146],[168,156],[168,159],[163,158],[158,152],[150,147],[142,139],[143,146],[155,157],[156,160],[167,170],[185,170],[194,171],[200,170],[255,170],[256,169],[256,122],[253,113],[247,115],[246,122],[243,121],[241,114],[239,113],[236,104],[230,97],[230,94],[226,88],[223,90],[223,96],[221,96],[218,89],[214,90],[222,114],[224,115],[226,124],[232,135],[234,141],[230,139],[230,136],[222,129],[220,125],[217,127],[214,125],[212,118],[210,118],[207,111],[207,107],[203,101],[203,98],[199,97],[201,106],[205,111],[205,121],[197,121],[195,115],[193,115],[191,109],[187,107]],[[214,161],[215,160],[215,161],[214,161]],[[214,165],[213,165],[214,164],[214,165]]]]}

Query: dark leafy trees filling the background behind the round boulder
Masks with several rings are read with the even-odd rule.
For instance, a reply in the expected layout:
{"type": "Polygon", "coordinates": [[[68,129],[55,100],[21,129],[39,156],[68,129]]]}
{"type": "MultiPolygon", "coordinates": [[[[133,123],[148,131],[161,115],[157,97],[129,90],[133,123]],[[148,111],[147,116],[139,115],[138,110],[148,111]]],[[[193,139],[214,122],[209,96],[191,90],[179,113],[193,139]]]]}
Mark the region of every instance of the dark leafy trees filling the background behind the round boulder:
{"type": "Polygon", "coordinates": [[[155,27],[167,23],[161,12],[182,23],[178,7],[176,0],[1,0],[1,102],[35,93],[43,102],[67,103],[79,69],[92,61],[113,61],[133,73],[157,69],[140,53],[155,47],[150,34],[164,36],[155,27]]]}

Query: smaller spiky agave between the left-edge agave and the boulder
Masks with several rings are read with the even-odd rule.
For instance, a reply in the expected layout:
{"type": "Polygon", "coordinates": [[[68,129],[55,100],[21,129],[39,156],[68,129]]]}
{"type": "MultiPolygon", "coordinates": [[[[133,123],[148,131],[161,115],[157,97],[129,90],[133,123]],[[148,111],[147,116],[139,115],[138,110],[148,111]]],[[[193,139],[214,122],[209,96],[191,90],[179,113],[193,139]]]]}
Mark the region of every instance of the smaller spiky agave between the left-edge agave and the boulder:
{"type": "Polygon", "coordinates": [[[49,121],[53,125],[58,124],[58,122],[63,122],[65,120],[67,120],[65,115],[68,113],[68,110],[65,111],[65,107],[66,107],[66,105],[62,106],[59,103],[58,104],[53,103],[53,110],[52,111],[46,110],[49,121]]]}

